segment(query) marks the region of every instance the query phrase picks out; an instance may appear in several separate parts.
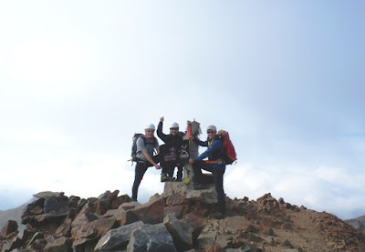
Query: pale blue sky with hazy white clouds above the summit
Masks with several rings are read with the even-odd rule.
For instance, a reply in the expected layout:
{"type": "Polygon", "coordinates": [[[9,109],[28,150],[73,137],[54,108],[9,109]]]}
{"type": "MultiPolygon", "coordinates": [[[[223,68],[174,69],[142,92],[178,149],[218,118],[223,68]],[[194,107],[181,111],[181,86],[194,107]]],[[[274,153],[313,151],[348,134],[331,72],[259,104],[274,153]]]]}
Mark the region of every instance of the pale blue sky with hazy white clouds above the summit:
{"type": "MultiPolygon", "coordinates": [[[[365,215],[363,1],[1,1],[0,210],[130,195],[131,136],[230,133],[227,197],[365,215]]],[[[162,141],[160,140],[162,144],[162,141]]],[[[202,153],[204,148],[200,148],[202,153]]],[[[160,171],[139,200],[161,194],[160,171]]]]}

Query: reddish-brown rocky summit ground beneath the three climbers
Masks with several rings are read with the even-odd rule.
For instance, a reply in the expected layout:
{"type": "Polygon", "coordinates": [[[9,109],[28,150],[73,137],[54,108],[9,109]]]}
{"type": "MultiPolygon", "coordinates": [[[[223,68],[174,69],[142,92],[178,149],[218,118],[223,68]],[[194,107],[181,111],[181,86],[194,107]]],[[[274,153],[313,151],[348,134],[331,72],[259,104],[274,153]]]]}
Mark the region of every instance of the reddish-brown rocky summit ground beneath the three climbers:
{"type": "Polygon", "coordinates": [[[41,192],[26,206],[18,230],[9,220],[0,251],[365,251],[365,236],[338,217],[297,207],[270,194],[226,198],[214,218],[214,186],[166,182],[145,204],[119,191],[88,199],[41,192]]]}

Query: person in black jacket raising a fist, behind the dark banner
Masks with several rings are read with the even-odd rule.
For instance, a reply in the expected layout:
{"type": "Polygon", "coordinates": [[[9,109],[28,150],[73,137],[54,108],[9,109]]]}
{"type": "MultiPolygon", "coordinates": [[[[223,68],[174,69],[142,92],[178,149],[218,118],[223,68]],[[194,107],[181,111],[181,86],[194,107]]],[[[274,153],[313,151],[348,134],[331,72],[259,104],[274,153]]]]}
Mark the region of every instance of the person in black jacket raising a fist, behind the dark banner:
{"type": "MultiPolygon", "coordinates": [[[[170,126],[170,134],[165,135],[162,132],[163,127],[163,116],[160,118],[159,126],[157,127],[157,136],[159,136],[162,141],[167,145],[172,145],[175,149],[179,149],[183,143],[183,136],[179,134],[179,125],[177,123],[172,123],[170,126]]],[[[183,165],[176,164],[178,166],[176,181],[183,181],[183,165]]],[[[161,182],[173,181],[173,172],[175,165],[173,166],[162,166],[161,182]]]]}

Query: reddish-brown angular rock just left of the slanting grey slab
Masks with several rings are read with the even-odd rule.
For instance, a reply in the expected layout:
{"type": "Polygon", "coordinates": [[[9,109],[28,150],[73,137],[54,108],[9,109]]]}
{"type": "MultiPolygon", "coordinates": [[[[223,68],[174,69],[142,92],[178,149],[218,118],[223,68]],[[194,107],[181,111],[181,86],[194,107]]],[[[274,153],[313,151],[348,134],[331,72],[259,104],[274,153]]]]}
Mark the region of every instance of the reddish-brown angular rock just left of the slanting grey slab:
{"type": "Polygon", "coordinates": [[[104,236],[116,223],[115,218],[101,218],[86,223],[82,227],[72,228],[73,246],[77,247],[104,236]]]}

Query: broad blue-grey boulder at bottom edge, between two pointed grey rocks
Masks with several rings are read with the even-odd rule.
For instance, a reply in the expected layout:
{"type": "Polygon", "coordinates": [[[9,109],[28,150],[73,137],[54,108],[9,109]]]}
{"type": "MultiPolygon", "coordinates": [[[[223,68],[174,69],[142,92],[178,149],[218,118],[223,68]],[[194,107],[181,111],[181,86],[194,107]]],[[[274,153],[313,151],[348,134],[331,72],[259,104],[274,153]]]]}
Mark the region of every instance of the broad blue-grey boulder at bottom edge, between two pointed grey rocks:
{"type": "Polygon", "coordinates": [[[177,251],[173,240],[166,227],[161,224],[143,224],[135,229],[130,235],[130,243],[127,246],[128,252],[177,251]]]}

